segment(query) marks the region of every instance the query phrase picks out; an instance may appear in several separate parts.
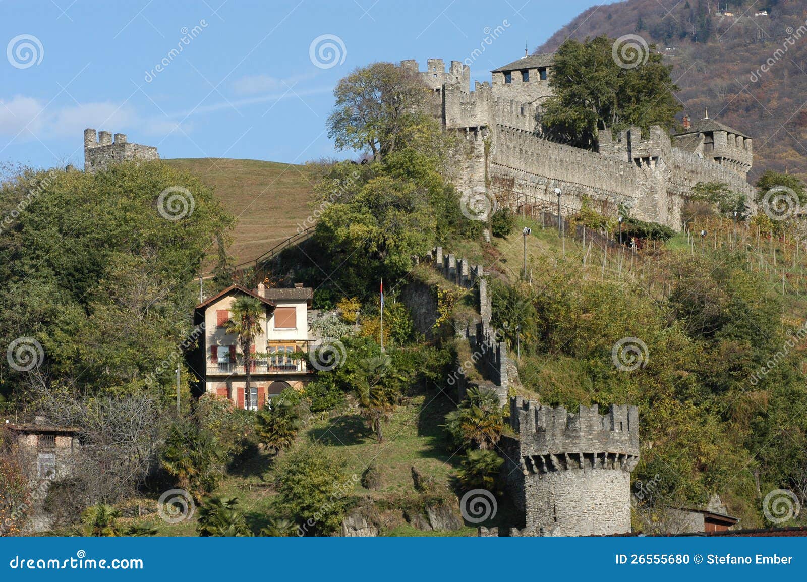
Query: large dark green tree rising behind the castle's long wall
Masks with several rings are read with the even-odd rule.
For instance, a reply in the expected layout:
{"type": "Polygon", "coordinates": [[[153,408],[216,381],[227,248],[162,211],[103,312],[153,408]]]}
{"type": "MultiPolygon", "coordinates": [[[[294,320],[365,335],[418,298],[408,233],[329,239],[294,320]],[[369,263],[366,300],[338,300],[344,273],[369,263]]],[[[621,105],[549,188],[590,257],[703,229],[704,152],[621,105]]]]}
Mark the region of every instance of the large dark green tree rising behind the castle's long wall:
{"type": "Polygon", "coordinates": [[[594,149],[598,130],[675,126],[681,106],[672,67],[663,65],[652,44],[623,52],[624,45],[615,43],[598,36],[558,48],[550,73],[554,96],[541,115],[550,139],[594,149]]]}

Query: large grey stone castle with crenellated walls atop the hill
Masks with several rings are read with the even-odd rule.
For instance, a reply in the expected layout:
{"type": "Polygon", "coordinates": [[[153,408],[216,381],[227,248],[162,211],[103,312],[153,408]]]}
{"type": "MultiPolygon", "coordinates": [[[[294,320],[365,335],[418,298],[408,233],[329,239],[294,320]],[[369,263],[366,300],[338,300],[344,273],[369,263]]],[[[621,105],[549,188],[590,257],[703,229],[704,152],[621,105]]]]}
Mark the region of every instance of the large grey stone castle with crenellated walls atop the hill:
{"type": "Polygon", "coordinates": [[[524,57],[470,90],[470,68],[460,61],[451,61],[448,71],[441,59],[429,59],[425,71],[416,61],[401,61],[433,91],[429,111],[443,128],[465,138],[455,164],[460,191],[484,189],[517,210],[557,203],[559,188],[566,212],[587,197],[602,211],[622,204],[640,220],[676,230],[681,205],[698,182],[725,182],[753,199],[746,181],[753,140],[708,116],[675,136],[658,126],[645,136],[639,128],[600,132],[598,152],[543,139],[537,114],[552,95],[553,63],[552,55],[524,57]]]}

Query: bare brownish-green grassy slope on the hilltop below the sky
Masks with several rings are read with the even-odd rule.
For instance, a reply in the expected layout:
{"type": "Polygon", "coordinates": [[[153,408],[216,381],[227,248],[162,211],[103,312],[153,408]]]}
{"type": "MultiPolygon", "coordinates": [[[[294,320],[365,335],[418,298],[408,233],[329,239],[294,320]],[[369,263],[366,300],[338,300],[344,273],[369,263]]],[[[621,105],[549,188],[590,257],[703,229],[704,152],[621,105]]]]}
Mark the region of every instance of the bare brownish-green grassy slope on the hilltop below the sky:
{"type": "Polygon", "coordinates": [[[165,162],[199,176],[238,218],[228,249],[238,263],[294,235],[311,213],[313,181],[304,165],[209,157],[165,162]]]}

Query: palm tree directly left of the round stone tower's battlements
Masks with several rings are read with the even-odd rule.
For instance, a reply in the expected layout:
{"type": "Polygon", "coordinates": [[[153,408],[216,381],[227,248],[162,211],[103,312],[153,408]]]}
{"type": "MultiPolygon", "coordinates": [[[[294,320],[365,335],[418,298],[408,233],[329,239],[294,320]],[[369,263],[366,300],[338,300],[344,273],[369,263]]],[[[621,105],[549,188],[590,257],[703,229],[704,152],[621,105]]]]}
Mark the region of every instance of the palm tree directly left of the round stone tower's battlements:
{"type": "Polygon", "coordinates": [[[473,442],[476,448],[491,450],[504,431],[504,414],[495,391],[470,387],[457,410],[445,415],[445,428],[455,446],[473,442]]]}

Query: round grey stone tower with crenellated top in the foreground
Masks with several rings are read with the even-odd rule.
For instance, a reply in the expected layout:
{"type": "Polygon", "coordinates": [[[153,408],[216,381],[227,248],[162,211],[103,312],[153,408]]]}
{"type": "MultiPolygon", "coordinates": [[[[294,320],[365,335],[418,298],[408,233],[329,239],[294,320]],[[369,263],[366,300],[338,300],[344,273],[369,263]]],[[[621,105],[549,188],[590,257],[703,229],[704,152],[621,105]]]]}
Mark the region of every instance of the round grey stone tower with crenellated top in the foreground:
{"type": "Polygon", "coordinates": [[[504,438],[508,489],[525,513],[521,535],[630,531],[630,472],[639,460],[638,409],[550,408],[510,400],[518,438],[504,438]]]}

